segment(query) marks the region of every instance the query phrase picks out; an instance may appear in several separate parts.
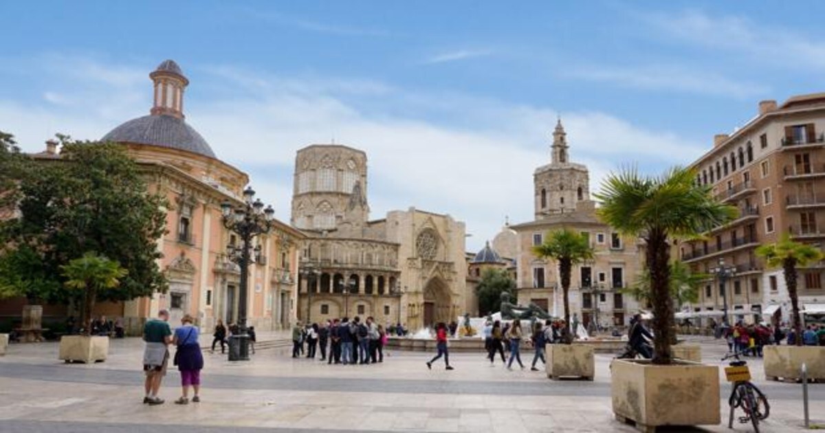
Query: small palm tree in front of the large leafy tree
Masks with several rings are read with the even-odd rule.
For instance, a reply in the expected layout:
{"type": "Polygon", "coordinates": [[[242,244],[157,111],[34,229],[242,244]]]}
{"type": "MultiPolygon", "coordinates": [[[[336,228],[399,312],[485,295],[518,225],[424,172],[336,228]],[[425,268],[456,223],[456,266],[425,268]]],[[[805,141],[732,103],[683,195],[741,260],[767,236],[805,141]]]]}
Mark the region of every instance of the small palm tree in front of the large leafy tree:
{"type": "Polygon", "coordinates": [[[120,285],[120,279],[129,271],[120,267],[117,261],[98,256],[96,252],[87,252],[82,257],[69,261],[68,265],[60,266],[60,269],[66,277],[66,287],[83,290],[83,333],[88,336],[92,332],[92,308],[95,306],[97,293],[120,285]]]}

